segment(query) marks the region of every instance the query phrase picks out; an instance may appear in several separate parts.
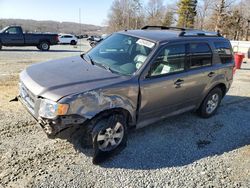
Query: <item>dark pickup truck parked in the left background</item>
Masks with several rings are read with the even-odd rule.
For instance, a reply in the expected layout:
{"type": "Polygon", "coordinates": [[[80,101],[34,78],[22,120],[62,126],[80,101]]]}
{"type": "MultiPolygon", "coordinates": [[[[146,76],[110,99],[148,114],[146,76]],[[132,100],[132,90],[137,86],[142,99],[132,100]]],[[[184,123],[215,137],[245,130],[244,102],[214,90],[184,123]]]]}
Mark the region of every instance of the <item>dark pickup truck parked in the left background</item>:
{"type": "Polygon", "coordinates": [[[23,33],[20,26],[8,26],[0,31],[0,50],[2,46],[36,46],[39,50],[47,51],[58,42],[57,34],[23,33]]]}

